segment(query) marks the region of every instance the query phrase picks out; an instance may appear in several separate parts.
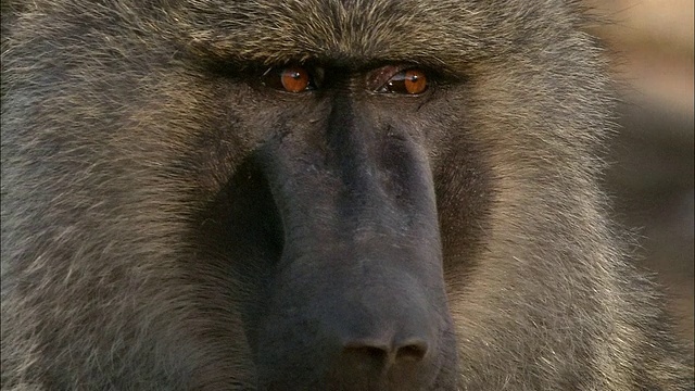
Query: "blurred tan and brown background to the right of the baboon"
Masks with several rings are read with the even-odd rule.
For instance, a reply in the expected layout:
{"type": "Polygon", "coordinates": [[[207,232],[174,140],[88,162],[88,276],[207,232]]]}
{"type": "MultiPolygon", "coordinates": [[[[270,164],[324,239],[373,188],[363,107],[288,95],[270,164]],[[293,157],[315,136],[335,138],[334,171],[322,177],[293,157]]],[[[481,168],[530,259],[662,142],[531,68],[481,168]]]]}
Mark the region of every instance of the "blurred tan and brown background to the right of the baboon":
{"type": "MultiPolygon", "coordinates": [[[[590,2],[591,0],[587,0],[590,2]]],[[[693,346],[693,0],[593,0],[621,84],[607,188],[635,228],[637,265],[656,274],[693,346]]]]}

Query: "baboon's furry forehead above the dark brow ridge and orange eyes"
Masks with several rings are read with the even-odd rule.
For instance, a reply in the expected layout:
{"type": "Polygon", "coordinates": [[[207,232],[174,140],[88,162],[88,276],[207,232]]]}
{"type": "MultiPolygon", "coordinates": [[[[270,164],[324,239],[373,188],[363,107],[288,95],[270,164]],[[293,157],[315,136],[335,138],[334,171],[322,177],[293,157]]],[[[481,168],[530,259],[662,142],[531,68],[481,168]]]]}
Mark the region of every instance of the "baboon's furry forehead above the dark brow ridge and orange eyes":
{"type": "Polygon", "coordinates": [[[450,64],[480,50],[483,15],[460,1],[199,1],[170,15],[216,55],[262,63],[450,64]]]}

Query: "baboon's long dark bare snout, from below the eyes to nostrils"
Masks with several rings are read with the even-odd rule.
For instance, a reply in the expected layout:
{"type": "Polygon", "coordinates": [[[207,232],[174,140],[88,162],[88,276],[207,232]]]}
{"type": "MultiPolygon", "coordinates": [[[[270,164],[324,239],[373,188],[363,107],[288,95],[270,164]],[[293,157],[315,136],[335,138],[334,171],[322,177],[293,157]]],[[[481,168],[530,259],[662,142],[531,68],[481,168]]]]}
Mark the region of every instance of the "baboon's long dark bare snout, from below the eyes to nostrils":
{"type": "Polygon", "coordinates": [[[359,124],[263,150],[283,248],[254,346],[262,389],[455,389],[425,149],[359,124]]]}

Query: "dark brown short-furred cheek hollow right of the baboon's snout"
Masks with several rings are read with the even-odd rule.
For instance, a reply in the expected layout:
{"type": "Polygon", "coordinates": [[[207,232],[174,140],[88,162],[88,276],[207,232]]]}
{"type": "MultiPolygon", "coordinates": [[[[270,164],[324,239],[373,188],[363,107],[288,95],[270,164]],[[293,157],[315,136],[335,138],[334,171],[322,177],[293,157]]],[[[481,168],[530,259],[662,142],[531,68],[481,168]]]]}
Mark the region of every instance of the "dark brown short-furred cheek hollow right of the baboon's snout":
{"type": "Polygon", "coordinates": [[[467,108],[472,104],[469,92],[467,87],[443,91],[437,110],[427,110],[432,114],[424,130],[434,178],[445,270],[472,267],[470,260],[480,257],[494,200],[491,146],[481,139],[468,115],[467,108]]]}

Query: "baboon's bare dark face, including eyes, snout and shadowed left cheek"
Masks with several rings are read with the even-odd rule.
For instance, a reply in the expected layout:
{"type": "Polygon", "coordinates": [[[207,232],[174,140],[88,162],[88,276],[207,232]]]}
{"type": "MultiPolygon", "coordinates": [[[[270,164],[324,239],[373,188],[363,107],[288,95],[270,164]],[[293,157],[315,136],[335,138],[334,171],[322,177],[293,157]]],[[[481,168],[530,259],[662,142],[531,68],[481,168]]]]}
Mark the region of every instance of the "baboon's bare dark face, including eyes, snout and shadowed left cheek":
{"type": "Polygon", "coordinates": [[[244,75],[241,88],[271,110],[247,114],[263,126],[225,195],[243,206],[206,236],[239,231],[230,248],[275,249],[245,317],[261,388],[455,387],[431,165],[442,124],[422,114],[446,86],[421,71],[421,93],[378,91],[410,68],[323,66],[311,70],[320,87],[301,92],[244,75]]]}

